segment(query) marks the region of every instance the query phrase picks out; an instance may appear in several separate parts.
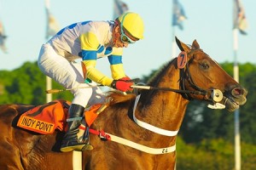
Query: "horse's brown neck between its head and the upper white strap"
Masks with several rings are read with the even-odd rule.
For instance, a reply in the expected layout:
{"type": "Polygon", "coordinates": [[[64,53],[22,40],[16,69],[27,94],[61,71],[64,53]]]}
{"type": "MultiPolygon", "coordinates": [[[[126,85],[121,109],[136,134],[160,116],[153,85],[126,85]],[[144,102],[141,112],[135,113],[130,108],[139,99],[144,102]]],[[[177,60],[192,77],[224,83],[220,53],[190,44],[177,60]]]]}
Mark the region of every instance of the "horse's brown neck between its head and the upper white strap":
{"type": "MultiPolygon", "coordinates": [[[[158,88],[179,89],[179,71],[174,66],[160,78],[158,88]]],[[[181,126],[188,103],[187,99],[175,92],[150,91],[142,94],[136,116],[154,127],[175,131],[181,126]]]]}

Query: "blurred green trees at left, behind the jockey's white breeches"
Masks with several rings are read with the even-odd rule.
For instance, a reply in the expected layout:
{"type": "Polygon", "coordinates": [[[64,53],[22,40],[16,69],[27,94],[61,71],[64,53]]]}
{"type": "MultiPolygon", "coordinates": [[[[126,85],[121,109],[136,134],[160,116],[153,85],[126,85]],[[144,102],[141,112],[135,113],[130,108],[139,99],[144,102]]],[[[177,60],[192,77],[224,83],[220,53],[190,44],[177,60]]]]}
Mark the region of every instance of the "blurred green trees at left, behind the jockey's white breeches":
{"type": "MultiPolygon", "coordinates": [[[[46,101],[46,77],[37,62],[26,62],[14,71],[0,71],[1,104],[42,105],[46,101]]],[[[62,88],[52,81],[53,88],[62,88]]],[[[70,92],[53,94],[53,99],[73,99],[70,92]]]]}

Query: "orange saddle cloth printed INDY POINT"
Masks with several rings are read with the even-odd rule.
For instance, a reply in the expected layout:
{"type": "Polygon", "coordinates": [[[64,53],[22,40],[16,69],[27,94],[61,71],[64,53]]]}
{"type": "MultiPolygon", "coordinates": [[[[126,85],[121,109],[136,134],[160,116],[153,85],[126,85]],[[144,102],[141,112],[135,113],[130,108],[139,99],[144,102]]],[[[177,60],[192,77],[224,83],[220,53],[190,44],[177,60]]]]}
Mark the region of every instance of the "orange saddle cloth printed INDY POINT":
{"type": "MultiPolygon", "coordinates": [[[[23,113],[17,126],[41,134],[54,133],[55,129],[64,131],[67,127],[67,112],[70,105],[71,102],[61,99],[38,105],[23,113]]],[[[101,106],[102,104],[92,105],[84,111],[88,126],[95,121],[101,106]]]]}

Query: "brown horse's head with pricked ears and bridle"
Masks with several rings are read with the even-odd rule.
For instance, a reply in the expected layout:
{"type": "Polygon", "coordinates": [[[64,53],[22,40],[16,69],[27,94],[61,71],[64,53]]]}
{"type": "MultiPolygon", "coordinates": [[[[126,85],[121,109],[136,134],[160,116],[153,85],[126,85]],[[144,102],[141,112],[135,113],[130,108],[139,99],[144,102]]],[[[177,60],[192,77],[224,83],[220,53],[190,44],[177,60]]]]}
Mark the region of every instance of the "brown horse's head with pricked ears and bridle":
{"type": "Polygon", "coordinates": [[[179,41],[177,37],[176,42],[186,57],[184,67],[180,69],[181,88],[199,92],[184,95],[186,98],[205,99],[211,101],[212,105],[224,105],[228,111],[235,111],[239,105],[246,103],[247,90],[230,77],[208,54],[204,53],[196,40],[191,47],[179,41]],[[215,89],[220,93],[217,100],[212,94],[216,92],[215,89]]]}

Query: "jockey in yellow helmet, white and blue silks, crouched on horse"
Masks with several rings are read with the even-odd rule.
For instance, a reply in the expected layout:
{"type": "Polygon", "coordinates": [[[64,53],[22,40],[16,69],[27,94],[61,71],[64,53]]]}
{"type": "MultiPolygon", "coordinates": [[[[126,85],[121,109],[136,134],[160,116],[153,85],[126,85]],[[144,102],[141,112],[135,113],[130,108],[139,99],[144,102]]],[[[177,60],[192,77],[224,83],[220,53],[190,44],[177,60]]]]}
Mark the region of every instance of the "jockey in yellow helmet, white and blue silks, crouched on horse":
{"type": "Polygon", "coordinates": [[[132,82],[125,75],[122,64],[123,48],[143,38],[144,25],[139,14],[126,12],[115,21],[84,21],[67,26],[46,42],[38,57],[41,71],[64,88],[71,90],[74,98],[68,111],[67,132],[61,151],[92,150],[89,134],[80,141],[77,133],[84,108],[94,100],[104,102],[100,88],[88,87],[102,84],[126,92],[132,82]],[[112,77],[96,69],[96,59],[108,56],[112,77]],[[81,59],[81,65],[73,62],[81,59]],[[87,79],[86,79],[87,78],[87,79]],[[84,83],[84,80],[91,83],[84,83]]]}

